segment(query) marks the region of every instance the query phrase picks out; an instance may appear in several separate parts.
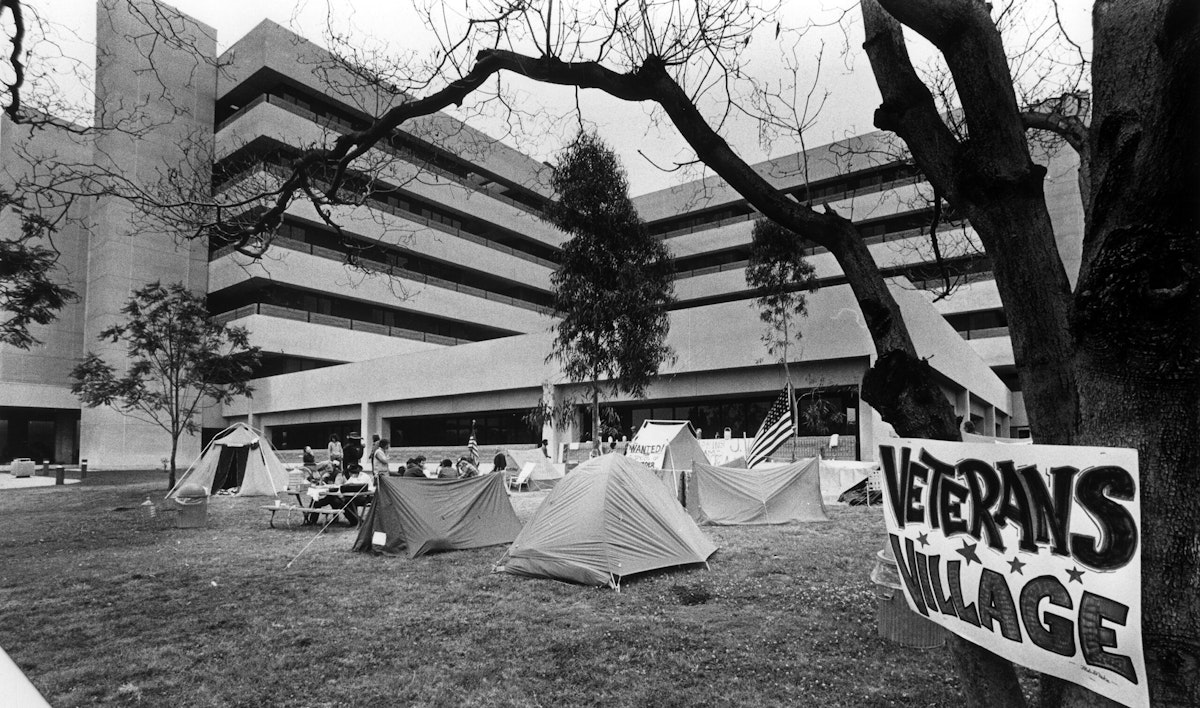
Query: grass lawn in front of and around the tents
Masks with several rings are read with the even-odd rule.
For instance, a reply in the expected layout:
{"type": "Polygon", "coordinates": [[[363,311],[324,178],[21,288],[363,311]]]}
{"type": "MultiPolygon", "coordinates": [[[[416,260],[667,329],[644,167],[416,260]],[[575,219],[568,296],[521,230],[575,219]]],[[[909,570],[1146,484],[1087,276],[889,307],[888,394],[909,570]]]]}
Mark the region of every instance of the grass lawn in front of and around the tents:
{"type": "Polygon", "coordinates": [[[878,508],[706,527],[710,570],[616,593],[492,574],[500,547],[352,553],[349,528],[268,528],[262,498],[175,529],[137,509],[164,487],[0,493],[0,646],[53,706],[962,703],[943,649],[876,636],[878,508]]]}

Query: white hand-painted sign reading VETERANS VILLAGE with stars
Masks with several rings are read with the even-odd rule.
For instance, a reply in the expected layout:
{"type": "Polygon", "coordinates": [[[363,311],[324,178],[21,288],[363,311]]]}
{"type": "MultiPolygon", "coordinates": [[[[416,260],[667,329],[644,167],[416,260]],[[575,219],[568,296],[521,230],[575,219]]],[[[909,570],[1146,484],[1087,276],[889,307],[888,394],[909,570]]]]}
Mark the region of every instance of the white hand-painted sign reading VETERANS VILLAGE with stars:
{"type": "Polygon", "coordinates": [[[880,463],[914,612],[1022,666],[1150,706],[1136,450],[894,439],[880,463]]]}

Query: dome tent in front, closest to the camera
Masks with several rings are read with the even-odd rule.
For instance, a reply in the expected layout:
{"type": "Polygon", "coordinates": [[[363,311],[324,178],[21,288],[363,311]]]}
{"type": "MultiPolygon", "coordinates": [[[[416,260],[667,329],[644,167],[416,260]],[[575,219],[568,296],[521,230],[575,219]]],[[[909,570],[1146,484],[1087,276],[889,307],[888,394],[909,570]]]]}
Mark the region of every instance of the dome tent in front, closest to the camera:
{"type": "Polygon", "coordinates": [[[610,454],[546,496],[496,570],[619,588],[623,577],[704,563],[715,551],[650,470],[610,454]]]}

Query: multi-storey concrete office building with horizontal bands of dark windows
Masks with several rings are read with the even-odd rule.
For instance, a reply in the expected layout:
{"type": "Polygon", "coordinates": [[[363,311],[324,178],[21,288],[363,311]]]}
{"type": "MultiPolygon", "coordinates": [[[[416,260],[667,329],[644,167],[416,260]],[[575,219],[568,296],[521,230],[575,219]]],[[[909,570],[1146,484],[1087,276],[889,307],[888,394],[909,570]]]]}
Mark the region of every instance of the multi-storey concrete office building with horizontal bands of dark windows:
{"type": "MultiPolygon", "coordinates": [[[[122,12],[100,10],[101,16],[122,12]]],[[[102,18],[101,28],[106,22],[119,26],[132,18],[102,18]]],[[[188,26],[203,36],[197,46],[211,52],[211,30],[188,26]]],[[[154,102],[152,90],[138,94],[119,83],[145,61],[128,44],[132,34],[100,35],[98,74],[110,78],[97,82],[97,109],[107,102],[134,103],[134,96],[154,102]]],[[[216,61],[156,56],[160,76],[187,89],[192,113],[156,133],[154,143],[118,144],[104,152],[126,150],[136,157],[132,169],[152,172],[148,166],[161,164],[179,145],[208,145],[214,188],[232,197],[278,180],[295,146],[359,127],[396,100],[361,86],[318,47],[270,22],[210,59],[216,61]],[[163,72],[162,62],[178,73],[163,72]]],[[[0,131],[6,155],[13,142],[30,142],[11,126],[0,131]]],[[[863,136],[757,168],[780,188],[828,202],[863,226],[948,400],[980,432],[1018,434],[1026,425],[1024,406],[986,257],[968,226],[947,229],[943,238],[954,244],[949,268],[965,284],[932,301],[924,289],[932,272],[922,235],[929,223],[922,199],[928,187],[904,164],[878,158],[882,139],[863,136]],[[806,170],[799,168],[804,158],[806,170]]],[[[86,156],[91,146],[77,149],[86,156]]],[[[122,235],[136,230],[128,208],[88,205],[90,218],[62,234],[68,242],[62,270],[80,286],[82,301],[38,330],[43,346],[28,353],[0,349],[6,455],[29,451],[37,438],[50,440],[40,450],[49,448],[47,454],[59,460],[157,464],[167,448],[162,433],[143,434],[113,412],[80,415],[66,380],[73,360],[96,348],[94,332],[112,322],[114,304],[155,278],[205,290],[217,318],[247,326],[269,353],[253,398],[211,409],[204,421],[209,434],[245,420],[277,446],[296,449],[322,446],[329,433],[350,430],[379,433],[401,446],[462,445],[472,421],[482,445],[542,437],[557,444],[589,430],[586,420],[565,431],[535,431],[522,420],[539,401],[562,403],[576,392],[557,366],[545,364],[550,275],[563,241],[540,216],[551,198],[546,167],[442,114],[406,124],[366,163],[370,175],[361,176],[364,184],[370,178],[368,198],[331,210],[343,234],[298,200],[259,262],[220,241],[137,241],[145,236],[122,235]],[[344,264],[347,238],[360,268],[344,264]],[[143,252],[152,257],[137,257],[143,252]],[[126,260],[138,263],[120,268],[130,265],[126,260]]],[[[1072,276],[1082,230],[1073,169],[1052,161],[1048,188],[1072,276]]],[[[782,377],[760,343],[762,325],[745,284],[752,210],[713,179],[646,194],[636,204],[676,259],[670,343],[678,360],[665,367],[644,401],[611,402],[619,430],[647,418],[690,418],[706,436],[726,427],[754,434],[782,377]]],[[[874,347],[833,258],[814,250],[811,259],[822,289],[810,296],[793,378],[804,401],[820,397],[842,413],[842,420],[820,431],[841,434],[846,443],[839,454],[866,458],[888,434],[858,398],[874,347]]],[[[109,354],[115,362],[116,353],[109,354]]],[[[192,440],[191,450],[198,444],[192,440]]]]}

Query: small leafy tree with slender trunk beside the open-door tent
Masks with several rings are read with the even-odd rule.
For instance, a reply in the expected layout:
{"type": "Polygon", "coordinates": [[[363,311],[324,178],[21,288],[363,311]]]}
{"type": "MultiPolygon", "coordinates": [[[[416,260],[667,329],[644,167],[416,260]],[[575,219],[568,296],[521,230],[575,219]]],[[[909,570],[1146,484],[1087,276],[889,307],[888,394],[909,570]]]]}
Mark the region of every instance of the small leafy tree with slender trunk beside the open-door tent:
{"type": "Polygon", "coordinates": [[[121,312],[126,322],[100,332],[100,340],[125,342],[128,371],[118,376],[89,352],[71,372],[71,390],[90,408],[112,406],[167,431],[174,487],[179,438],[198,430],[196,416],[203,408],[251,395],[248,382],[260,350],[250,346],[245,328],[209,319],[204,298],[181,283],[134,290],[121,312]]]}

